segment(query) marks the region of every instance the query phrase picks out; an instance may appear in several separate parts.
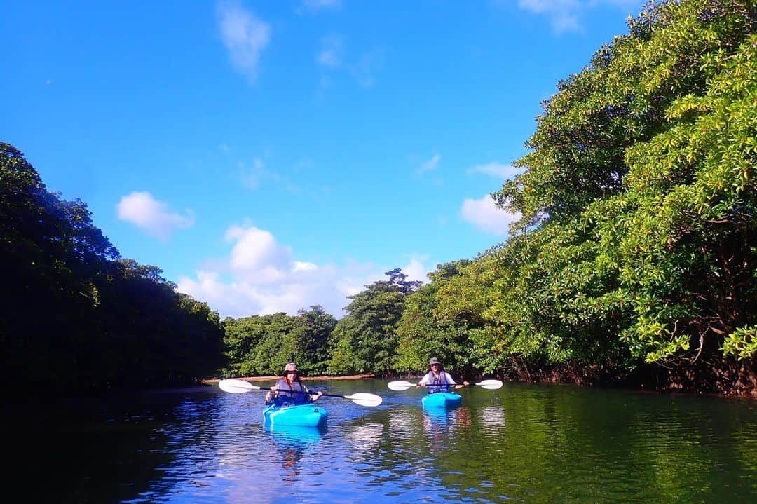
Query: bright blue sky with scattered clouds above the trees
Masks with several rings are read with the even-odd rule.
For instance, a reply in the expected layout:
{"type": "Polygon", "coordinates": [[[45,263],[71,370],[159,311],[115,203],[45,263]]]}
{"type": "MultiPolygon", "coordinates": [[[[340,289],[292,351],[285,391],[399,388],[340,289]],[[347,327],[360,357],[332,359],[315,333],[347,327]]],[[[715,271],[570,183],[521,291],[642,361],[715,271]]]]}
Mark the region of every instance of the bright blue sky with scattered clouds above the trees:
{"type": "Polygon", "coordinates": [[[0,140],[221,316],[506,239],[488,194],[635,0],[10,2],[0,140]]]}

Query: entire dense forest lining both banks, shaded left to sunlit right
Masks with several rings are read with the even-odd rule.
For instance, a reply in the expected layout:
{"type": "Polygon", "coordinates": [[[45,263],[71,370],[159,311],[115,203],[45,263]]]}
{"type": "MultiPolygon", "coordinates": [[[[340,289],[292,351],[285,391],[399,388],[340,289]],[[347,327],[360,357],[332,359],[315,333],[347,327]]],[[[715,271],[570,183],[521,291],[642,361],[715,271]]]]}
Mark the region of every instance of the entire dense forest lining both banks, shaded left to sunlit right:
{"type": "Polygon", "coordinates": [[[757,5],[650,2],[557,84],[492,196],[509,238],[400,269],[341,319],[221,321],[120,258],[86,204],[0,144],[5,371],[55,390],[204,376],[459,375],[728,394],[757,391],[757,5]]]}

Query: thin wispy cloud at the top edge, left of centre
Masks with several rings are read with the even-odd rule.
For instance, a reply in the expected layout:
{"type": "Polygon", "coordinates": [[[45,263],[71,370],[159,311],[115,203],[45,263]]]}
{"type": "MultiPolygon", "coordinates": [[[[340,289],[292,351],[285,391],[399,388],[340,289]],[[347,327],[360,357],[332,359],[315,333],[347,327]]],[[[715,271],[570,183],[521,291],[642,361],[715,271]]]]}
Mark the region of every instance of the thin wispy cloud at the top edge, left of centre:
{"type": "Polygon", "coordinates": [[[229,51],[232,64],[254,81],[260,52],[270,41],[270,26],[246,11],[238,0],[218,2],[217,14],[223,45],[229,51]]]}

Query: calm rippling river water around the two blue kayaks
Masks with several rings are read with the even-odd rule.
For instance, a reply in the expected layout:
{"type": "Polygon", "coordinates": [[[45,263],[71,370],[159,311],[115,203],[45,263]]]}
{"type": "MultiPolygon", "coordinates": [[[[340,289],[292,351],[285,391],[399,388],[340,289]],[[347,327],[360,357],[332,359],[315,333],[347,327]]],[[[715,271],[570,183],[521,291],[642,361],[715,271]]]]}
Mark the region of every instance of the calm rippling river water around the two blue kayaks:
{"type": "MultiPolygon", "coordinates": [[[[460,390],[425,412],[384,381],[324,397],[325,429],[269,432],[217,387],[15,406],[6,493],[25,502],[757,502],[757,402],[556,385],[460,390]]],[[[6,405],[8,406],[8,405],[6,405]]]]}

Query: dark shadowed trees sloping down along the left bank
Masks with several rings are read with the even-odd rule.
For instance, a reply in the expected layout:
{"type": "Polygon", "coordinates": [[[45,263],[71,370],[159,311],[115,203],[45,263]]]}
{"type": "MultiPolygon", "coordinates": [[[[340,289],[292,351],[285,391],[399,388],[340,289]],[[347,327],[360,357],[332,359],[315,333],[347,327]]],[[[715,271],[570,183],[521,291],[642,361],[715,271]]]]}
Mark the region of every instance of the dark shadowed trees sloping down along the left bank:
{"type": "Polygon", "coordinates": [[[216,313],[160,269],[122,260],[82,201],[0,143],[0,355],[36,390],[187,384],[222,365],[216,313]]]}

